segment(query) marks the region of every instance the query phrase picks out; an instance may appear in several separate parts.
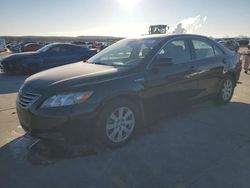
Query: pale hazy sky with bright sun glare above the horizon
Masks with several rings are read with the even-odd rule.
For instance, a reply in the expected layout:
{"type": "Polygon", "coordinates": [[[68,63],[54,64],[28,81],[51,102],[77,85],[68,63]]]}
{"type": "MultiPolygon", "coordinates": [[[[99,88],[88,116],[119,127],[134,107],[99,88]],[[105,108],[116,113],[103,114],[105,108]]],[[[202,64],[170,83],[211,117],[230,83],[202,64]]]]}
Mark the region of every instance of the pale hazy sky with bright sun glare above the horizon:
{"type": "Polygon", "coordinates": [[[129,37],[166,24],[169,33],[250,37],[250,0],[0,0],[0,12],[0,36],[129,37]]]}

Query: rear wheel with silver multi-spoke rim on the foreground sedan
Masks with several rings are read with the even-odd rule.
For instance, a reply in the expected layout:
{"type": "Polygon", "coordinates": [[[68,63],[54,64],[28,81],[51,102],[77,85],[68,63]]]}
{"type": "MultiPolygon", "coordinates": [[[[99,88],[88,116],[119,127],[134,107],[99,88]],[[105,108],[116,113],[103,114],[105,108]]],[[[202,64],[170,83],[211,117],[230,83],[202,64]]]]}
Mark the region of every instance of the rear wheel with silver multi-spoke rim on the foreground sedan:
{"type": "Polygon", "coordinates": [[[220,83],[219,91],[216,96],[217,104],[227,104],[231,101],[235,88],[235,80],[227,75],[220,83]]]}

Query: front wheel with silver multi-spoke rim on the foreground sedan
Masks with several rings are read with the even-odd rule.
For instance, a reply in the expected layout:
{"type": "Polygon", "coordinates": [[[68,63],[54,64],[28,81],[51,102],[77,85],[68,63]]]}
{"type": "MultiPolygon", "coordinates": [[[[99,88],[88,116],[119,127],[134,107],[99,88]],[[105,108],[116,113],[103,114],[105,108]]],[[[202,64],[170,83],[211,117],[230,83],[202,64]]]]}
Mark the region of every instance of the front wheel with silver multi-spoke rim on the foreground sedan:
{"type": "Polygon", "coordinates": [[[139,124],[138,107],[126,99],[115,100],[104,106],[96,126],[96,141],[107,147],[127,143],[139,124]]]}

